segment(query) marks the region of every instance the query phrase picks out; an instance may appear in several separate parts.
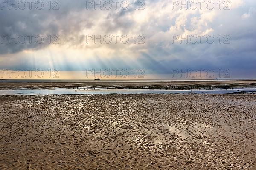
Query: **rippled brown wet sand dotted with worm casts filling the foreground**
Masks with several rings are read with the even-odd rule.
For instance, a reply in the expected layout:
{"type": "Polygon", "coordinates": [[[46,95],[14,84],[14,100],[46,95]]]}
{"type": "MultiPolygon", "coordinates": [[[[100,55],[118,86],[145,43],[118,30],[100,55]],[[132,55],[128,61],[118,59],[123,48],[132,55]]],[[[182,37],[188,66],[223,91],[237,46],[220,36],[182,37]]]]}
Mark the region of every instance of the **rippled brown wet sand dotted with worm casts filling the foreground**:
{"type": "Polygon", "coordinates": [[[256,95],[0,96],[0,169],[256,170],[256,95]]]}

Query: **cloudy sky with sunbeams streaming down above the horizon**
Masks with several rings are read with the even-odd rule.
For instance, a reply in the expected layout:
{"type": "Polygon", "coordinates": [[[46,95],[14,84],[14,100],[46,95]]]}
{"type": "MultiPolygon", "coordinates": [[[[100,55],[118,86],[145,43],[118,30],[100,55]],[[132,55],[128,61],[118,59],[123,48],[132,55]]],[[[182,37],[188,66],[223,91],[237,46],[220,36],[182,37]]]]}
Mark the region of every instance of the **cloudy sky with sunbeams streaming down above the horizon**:
{"type": "Polygon", "coordinates": [[[8,0],[0,16],[0,79],[256,78],[255,0],[8,0]]]}

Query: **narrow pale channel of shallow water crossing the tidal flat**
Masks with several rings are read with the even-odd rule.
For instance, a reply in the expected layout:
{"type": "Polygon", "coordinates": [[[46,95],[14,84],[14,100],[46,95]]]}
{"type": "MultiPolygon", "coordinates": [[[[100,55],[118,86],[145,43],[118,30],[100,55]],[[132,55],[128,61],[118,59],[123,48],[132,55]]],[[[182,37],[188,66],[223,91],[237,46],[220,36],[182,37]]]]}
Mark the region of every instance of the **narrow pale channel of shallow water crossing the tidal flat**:
{"type": "Polygon", "coordinates": [[[75,90],[66,88],[52,89],[15,89],[0,90],[0,95],[62,95],[62,94],[228,94],[236,92],[256,92],[256,88],[233,88],[214,90],[159,90],[159,89],[96,89],[75,90]]]}

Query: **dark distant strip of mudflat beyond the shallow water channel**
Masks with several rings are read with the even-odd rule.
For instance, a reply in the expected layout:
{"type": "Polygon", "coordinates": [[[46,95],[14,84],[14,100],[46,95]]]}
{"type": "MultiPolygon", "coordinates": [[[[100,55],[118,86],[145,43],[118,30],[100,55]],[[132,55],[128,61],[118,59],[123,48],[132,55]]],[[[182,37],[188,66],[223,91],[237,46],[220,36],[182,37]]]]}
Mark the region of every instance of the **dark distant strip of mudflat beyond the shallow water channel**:
{"type": "Polygon", "coordinates": [[[5,82],[0,83],[0,89],[38,89],[38,88],[130,88],[130,89],[215,89],[256,87],[256,80],[232,81],[177,81],[177,82],[5,82]]]}

